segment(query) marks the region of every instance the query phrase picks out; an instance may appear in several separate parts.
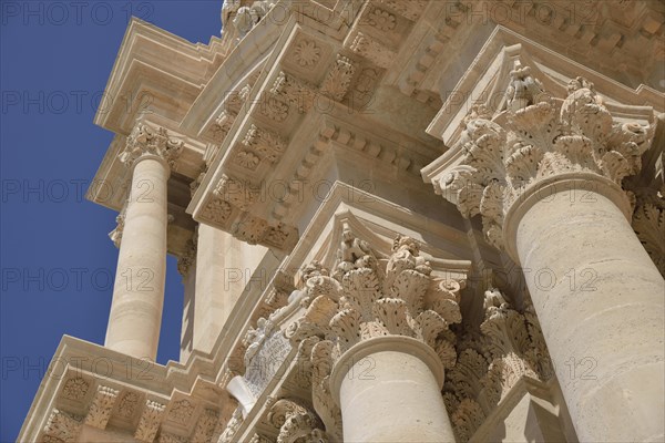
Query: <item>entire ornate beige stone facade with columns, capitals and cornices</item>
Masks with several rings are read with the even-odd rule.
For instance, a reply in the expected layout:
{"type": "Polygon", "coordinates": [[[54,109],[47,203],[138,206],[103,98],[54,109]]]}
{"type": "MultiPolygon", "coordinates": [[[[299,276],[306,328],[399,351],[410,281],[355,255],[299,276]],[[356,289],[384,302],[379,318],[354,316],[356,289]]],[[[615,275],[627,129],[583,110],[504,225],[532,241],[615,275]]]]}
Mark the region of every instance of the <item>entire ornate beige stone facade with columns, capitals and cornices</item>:
{"type": "Polygon", "coordinates": [[[129,25],[106,340],[63,338],[19,441],[663,441],[662,3],[221,16],[129,25]]]}

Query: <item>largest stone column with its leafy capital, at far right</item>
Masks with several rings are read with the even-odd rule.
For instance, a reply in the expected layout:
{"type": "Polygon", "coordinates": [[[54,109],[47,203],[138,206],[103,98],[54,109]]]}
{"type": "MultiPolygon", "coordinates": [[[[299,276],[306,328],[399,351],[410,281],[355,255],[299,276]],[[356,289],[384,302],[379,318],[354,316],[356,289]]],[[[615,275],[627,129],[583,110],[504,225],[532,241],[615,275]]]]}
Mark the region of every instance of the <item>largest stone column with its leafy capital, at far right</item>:
{"type": "Polygon", "coordinates": [[[520,65],[507,107],[472,111],[436,185],[521,265],[580,441],[662,440],[665,282],[621,187],[653,126],[614,122],[582,78],[551,99],[520,65]]]}

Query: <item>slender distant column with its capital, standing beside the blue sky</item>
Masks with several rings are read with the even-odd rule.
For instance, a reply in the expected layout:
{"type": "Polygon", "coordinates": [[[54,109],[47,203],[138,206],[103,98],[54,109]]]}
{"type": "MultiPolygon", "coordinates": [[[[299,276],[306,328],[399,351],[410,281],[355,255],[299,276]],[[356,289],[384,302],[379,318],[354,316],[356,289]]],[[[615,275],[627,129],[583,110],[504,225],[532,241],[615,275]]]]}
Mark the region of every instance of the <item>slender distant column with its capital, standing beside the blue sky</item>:
{"type": "Polygon", "coordinates": [[[132,169],[104,346],[135,358],[157,354],[166,278],[166,182],[182,143],[140,124],[120,158],[132,169]]]}

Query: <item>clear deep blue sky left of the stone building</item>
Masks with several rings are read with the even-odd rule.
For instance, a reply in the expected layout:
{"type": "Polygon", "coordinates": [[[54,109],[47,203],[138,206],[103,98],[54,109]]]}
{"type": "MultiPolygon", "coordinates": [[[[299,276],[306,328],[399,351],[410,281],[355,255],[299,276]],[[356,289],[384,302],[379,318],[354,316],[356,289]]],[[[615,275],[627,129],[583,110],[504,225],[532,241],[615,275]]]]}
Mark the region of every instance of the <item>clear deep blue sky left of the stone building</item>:
{"type": "MultiPolygon", "coordinates": [[[[113,135],[92,120],[129,17],[207,43],[222,0],[0,6],[0,442],[13,442],[61,337],[104,340],[115,214],[83,195],[113,135]]],[[[160,363],[178,357],[182,291],[170,257],[160,363]]]]}

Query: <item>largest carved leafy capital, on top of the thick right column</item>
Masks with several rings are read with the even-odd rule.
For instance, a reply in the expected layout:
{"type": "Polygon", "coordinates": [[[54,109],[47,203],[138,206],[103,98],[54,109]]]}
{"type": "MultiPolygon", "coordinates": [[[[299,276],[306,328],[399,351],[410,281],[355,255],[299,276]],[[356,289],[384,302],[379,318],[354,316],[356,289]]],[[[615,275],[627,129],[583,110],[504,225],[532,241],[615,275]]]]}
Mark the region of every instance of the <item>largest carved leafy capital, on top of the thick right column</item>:
{"type": "Polygon", "coordinates": [[[525,189],[565,173],[597,175],[621,186],[640,172],[654,132],[653,125],[615,122],[583,78],[571,80],[561,101],[519,62],[510,76],[505,112],[490,120],[482,105],[473,107],[457,143],[463,157],[438,183],[464,217],[482,216],[487,239],[500,248],[503,218],[525,189]]]}

